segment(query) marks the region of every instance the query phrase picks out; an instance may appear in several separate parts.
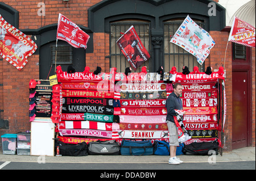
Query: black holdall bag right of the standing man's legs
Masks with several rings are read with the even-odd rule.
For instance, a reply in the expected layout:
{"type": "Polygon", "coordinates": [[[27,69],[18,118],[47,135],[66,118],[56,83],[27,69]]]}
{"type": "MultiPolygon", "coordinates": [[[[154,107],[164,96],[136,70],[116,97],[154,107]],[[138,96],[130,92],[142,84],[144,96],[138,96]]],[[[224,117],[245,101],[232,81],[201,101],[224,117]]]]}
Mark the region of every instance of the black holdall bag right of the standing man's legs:
{"type": "Polygon", "coordinates": [[[185,145],[183,153],[186,155],[212,155],[218,154],[218,142],[192,142],[189,145],[185,145]]]}

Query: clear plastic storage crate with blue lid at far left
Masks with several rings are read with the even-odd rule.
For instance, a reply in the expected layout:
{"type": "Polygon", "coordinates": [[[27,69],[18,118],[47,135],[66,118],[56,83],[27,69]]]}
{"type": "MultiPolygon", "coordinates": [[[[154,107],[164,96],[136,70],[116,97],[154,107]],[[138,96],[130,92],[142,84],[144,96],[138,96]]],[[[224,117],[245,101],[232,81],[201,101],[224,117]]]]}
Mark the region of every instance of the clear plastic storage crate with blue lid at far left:
{"type": "Polygon", "coordinates": [[[3,134],[1,138],[3,154],[16,154],[17,134],[3,134]]]}

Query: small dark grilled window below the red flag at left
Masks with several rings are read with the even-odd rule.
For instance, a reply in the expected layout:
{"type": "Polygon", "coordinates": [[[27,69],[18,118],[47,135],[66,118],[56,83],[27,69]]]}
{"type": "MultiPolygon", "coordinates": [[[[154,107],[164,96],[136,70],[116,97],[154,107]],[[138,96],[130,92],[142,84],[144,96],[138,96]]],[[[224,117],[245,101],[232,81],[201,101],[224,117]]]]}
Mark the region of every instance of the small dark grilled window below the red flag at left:
{"type": "MultiPolygon", "coordinates": [[[[51,45],[52,64],[55,64],[56,45],[51,45]]],[[[57,46],[57,64],[73,64],[73,48],[65,45],[57,46]]]]}

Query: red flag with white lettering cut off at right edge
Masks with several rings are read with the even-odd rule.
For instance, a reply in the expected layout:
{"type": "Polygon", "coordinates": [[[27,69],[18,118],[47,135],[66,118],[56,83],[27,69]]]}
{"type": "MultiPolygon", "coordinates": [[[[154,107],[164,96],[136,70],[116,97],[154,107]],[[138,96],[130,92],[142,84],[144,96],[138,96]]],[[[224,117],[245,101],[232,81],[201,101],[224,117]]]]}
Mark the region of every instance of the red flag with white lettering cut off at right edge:
{"type": "Polygon", "coordinates": [[[229,41],[255,48],[255,27],[235,16],[229,41]]]}

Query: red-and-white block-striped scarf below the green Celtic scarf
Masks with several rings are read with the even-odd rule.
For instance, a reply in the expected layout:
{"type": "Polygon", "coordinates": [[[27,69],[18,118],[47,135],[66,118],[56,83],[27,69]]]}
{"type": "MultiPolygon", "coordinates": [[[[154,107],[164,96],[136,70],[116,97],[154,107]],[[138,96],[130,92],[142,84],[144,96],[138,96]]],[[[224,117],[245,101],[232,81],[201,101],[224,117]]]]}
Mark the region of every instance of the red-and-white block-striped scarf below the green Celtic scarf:
{"type": "Polygon", "coordinates": [[[59,129],[100,129],[104,131],[119,131],[119,124],[101,123],[96,121],[60,121],[59,129]]]}

